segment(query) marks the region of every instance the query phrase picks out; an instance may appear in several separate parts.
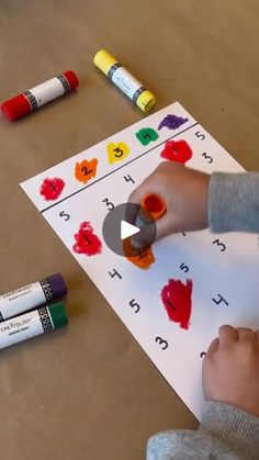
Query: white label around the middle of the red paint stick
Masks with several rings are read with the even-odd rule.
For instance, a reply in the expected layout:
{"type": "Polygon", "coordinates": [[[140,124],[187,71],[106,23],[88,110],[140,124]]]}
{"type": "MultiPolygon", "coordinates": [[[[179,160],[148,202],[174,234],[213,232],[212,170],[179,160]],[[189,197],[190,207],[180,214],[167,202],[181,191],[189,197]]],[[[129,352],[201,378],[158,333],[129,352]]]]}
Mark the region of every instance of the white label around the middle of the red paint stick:
{"type": "Polygon", "coordinates": [[[29,92],[34,96],[37,106],[40,108],[41,105],[59,98],[59,96],[63,96],[65,93],[65,88],[61,81],[55,77],[35,88],[30,89],[29,92]]]}

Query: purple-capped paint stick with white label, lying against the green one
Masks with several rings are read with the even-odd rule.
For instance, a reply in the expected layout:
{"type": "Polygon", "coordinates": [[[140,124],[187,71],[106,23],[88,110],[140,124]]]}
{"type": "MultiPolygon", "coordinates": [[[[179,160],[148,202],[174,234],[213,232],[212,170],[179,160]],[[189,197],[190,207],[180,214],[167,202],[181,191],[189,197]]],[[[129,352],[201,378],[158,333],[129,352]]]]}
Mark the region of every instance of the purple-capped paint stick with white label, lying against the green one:
{"type": "Polygon", "coordinates": [[[61,273],[55,273],[15,291],[0,295],[0,322],[35,306],[63,298],[67,287],[61,273]]]}

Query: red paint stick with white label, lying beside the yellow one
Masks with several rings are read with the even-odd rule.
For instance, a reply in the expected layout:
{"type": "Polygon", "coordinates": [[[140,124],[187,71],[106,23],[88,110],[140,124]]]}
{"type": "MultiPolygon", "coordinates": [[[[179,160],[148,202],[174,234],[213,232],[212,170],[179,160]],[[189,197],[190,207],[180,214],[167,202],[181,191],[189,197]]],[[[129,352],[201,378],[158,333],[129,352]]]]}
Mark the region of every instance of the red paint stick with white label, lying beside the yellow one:
{"type": "Polygon", "coordinates": [[[57,75],[44,83],[22,92],[1,104],[4,116],[13,122],[23,115],[40,109],[54,99],[72,91],[79,85],[78,78],[72,70],[57,75]]]}

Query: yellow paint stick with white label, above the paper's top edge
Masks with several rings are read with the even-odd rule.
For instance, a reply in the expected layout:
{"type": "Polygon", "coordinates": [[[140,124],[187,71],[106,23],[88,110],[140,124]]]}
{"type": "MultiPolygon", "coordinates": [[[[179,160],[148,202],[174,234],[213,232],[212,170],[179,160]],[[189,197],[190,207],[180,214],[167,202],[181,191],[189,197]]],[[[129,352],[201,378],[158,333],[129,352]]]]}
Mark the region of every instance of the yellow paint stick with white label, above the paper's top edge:
{"type": "Polygon", "coordinates": [[[110,53],[101,49],[93,58],[95,66],[106,75],[143,112],[148,112],[156,102],[155,96],[146,90],[110,53]]]}

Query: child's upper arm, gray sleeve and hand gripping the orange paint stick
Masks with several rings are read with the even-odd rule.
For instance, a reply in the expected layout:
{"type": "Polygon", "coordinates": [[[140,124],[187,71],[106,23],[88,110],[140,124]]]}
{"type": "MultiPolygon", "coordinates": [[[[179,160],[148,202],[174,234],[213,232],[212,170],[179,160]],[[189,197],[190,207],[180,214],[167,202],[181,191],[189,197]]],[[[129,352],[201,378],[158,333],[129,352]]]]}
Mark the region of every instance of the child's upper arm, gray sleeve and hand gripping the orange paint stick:
{"type": "Polygon", "coordinates": [[[164,161],[128,198],[140,203],[157,193],[167,213],[157,221],[157,239],[176,232],[210,226],[212,232],[259,232],[259,172],[212,176],[164,161]]]}

